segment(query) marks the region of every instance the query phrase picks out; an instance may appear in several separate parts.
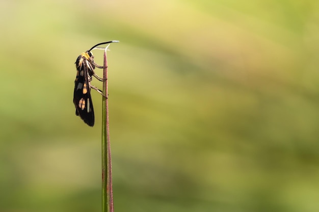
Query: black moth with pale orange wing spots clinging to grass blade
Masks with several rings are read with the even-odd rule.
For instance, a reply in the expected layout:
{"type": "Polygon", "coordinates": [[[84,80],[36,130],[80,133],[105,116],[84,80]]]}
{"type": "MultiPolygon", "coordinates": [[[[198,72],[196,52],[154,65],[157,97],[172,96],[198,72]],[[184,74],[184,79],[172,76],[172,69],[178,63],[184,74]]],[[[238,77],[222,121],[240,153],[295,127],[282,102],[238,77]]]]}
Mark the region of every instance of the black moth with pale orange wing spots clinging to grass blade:
{"type": "Polygon", "coordinates": [[[104,79],[97,76],[94,72],[95,68],[102,69],[103,66],[99,66],[94,63],[94,56],[92,50],[102,44],[108,44],[115,41],[108,41],[103,43],[98,43],[92,48],[83,52],[79,55],[75,61],[76,68],[76,78],[74,81],[74,93],[73,93],[73,103],[75,106],[75,114],[80,116],[81,119],[90,127],[94,126],[94,109],[91,97],[91,88],[95,89],[99,94],[103,96],[100,89],[91,84],[92,77],[95,77],[99,81],[104,79]]]}

